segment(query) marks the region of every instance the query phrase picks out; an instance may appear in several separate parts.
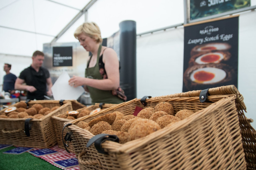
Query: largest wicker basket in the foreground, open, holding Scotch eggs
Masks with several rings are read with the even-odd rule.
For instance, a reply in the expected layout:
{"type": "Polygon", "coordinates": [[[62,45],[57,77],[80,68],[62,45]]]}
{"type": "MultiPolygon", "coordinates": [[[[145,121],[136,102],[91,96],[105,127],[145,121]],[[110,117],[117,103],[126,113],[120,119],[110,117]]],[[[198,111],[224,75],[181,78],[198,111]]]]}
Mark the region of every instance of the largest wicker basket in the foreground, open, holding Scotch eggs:
{"type": "Polygon", "coordinates": [[[140,99],[134,99],[73,120],[70,123],[74,125],[67,129],[73,132],[73,147],[80,169],[246,169],[240,117],[236,108],[236,105],[244,104],[236,103],[234,93],[221,94],[221,90],[211,89],[215,93],[208,99],[213,103],[201,103],[197,95],[200,91],[194,91],[174,94],[172,98],[150,98],[146,100],[147,106],[140,99]],[[108,155],[99,153],[94,145],[86,148],[94,135],[76,126],[80,121],[90,122],[114,111],[130,115],[136,106],[154,107],[161,101],[171,103],[175,113],[189,109],[195,114],[171,127],[125,144],[105,141],[102,148],[108,155]]]}

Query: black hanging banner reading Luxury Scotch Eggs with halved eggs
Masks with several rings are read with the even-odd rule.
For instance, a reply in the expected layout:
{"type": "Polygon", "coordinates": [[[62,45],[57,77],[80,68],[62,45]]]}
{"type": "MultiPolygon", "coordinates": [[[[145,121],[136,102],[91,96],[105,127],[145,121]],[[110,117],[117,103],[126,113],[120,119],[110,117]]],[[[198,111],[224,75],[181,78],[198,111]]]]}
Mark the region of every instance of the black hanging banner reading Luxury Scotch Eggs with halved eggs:
{"type": "Polygon", "coordinates": [[[184,27],[183,92],[234,84],[238,17],[184,27]]]}

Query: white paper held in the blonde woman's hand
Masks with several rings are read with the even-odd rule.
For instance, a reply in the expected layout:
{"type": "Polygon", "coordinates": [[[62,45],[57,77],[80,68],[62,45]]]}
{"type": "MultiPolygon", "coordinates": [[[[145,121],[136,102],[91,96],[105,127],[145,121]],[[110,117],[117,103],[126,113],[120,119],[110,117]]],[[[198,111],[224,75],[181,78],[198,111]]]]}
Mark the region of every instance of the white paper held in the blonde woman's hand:
{"type": "Polygon", "coordinates": [[[54,100],[77,100],[85,91],[82,86],[74,88],[69,86],[70,77],[67,72],[63,72],[52,86],[54,100]]]}

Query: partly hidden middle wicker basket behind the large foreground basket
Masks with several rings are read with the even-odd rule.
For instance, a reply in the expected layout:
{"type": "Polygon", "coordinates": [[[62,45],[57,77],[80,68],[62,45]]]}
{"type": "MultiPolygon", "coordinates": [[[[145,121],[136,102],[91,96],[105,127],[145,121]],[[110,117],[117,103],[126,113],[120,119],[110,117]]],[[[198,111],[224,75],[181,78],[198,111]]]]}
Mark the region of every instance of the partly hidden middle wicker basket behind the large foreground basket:
{"type": "MultiPolygon", "coordinates": [[[[115,105],[116,104],[104,104],[101,107],[102,107],[102,110],[104,110],[106,108],[109,108],[109,107],[115,106],[115,105]]],[[[72,106],[73,106],[73,103],[72,103],[72,106]]],[[[99,107],[100,107],[100,103],[95,103],[95,105],[90,105],[88,107],[85,106],[83,108],[76,109],[76,111],[80,112],[84,108],[87,108],[88,110],[92,111],[92,110],[94,110],[96,108],[99,108],[99,107]]],[[[73,110],[75,110],[74,107],[73,107],[73,110]]],[[[69,110],[69,111],[71,111],[71,110],[69,110]]],[[[67,113],[61,113],[60,115],[54,115],[54,116],[52,116],[52,120],[54,122],[54,129],[55,129],[55,134],[56,134],[56,137],[57,137],[57,144],[58,144],[59,148],[65,149],[65,147],[63,146],[63,142],[62,142],[62,129],[63,129],[63,126],[64,126],[65,122],[70,122],[72,120],[67,119],[67,118],[61,118],[60,117],[61,115],[67,115],[67,113]]],[[[67,129],[64,129],[63,134],[66,135],[66,133],[67,133],[67,129]]],[[[75,153],[75,151],[73,149],[72,141],[71,141],[71,143],[69,143],[69,147],[67,149],[70,152],[75,153]]]]}

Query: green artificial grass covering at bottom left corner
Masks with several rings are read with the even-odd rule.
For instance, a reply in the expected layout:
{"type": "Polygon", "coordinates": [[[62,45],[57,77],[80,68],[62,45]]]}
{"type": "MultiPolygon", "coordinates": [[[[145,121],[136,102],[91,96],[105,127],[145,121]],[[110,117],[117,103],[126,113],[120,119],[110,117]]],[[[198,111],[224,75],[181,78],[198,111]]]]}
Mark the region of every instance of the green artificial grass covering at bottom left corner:
{"type": "Polygon", "coordinates": [[[37,158],[28,152],[20,155],[3,154],[3,152],[16,148],[11,146],[0,150],[0,170],[61,170],[47,161],[37,158]]]}

